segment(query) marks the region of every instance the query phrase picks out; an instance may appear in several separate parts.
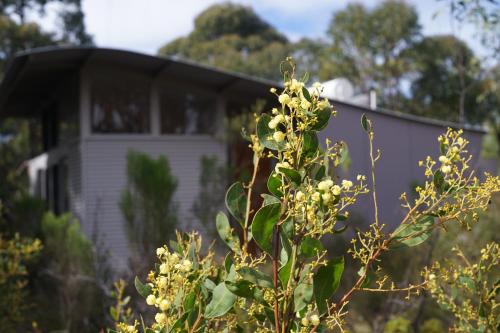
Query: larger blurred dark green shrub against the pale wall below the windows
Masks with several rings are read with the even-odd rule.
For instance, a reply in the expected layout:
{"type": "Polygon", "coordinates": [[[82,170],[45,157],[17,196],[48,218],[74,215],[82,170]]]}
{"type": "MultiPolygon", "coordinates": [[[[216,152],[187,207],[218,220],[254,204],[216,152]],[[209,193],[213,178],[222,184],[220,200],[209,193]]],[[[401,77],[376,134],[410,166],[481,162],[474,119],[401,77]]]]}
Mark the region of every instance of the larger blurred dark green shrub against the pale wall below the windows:
{"type": "Polygon", "coordinates": [[[127,179],[120,208],[129,240],[141,257],[150,256],[175,229],[177,180],[166,157],[153,159],[136,151],[127,154],[127,179]]]}

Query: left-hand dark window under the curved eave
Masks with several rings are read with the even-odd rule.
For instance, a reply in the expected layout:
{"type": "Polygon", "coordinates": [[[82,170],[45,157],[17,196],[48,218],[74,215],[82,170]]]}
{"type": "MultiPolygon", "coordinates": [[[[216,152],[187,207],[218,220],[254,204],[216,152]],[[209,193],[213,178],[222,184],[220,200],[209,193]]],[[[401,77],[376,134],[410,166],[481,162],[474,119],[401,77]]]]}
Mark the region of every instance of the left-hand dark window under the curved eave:
{"type": "Polygon", "coordinates": [[[93,133],[149,132],[149,84],[116,75],[92,80],[93,133]]]}

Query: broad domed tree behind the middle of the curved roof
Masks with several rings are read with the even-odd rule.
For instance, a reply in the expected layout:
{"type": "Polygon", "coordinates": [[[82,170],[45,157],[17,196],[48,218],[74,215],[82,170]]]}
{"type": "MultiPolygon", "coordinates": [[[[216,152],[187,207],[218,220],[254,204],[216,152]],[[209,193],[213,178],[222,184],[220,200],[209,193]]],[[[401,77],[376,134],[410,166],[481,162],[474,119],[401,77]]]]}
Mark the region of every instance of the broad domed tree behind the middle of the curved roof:
{"type": "Polygon", "coordinates": [[[167,43],[158,53],[279,79],[274,69],[290,51],[289,47],[286,37],[250,7],[224,3],[204,10],[196,17],[189,35],[167,43]]]}

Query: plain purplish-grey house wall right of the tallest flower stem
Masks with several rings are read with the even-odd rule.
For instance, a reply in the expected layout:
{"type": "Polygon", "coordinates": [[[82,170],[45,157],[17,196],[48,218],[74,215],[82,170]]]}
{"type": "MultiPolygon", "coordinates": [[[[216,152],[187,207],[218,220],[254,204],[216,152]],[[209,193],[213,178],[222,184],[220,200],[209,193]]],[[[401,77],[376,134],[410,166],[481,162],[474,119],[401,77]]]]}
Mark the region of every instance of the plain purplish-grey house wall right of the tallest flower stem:
{"type": "MultiPolygon", "coordinates": [[[[423,181],[423,168],[418,161],[431,155],[437,159],[439,145],[437,137],[446,131],[445,126],[433,125],[429,122],[405,119],[383,112],[371,112],[352,105],[338,103],[337,117],[332,118],[328,127],[321,133],[321,141],[330,138],[333,142],[343,140],[347,143],[351,158],[351,166],[342,177],[355,179],[364,174],[370,179],[371,167],[369,146],[366,133],[361,128],[360,119],[363,113],[373,121],[375,130],[375,147],[381,150],[381,158],[376,164],[376,184],[379,213],[382,223],[395,226],[399,223],[403,210],[399,205],[399,196],[403,192],[410,193],[411,186],[423,181]]],[[[480,160],[483,133],[466,131],[465,137],[471,142],[469,151],[474,159],[471,165],[482,174],[492,172],[492,165],[480,160]]],[[[353,209],[353,217],[362,223],[373,221],[373,203],[371,195],[366,195],[353,209]]]]}

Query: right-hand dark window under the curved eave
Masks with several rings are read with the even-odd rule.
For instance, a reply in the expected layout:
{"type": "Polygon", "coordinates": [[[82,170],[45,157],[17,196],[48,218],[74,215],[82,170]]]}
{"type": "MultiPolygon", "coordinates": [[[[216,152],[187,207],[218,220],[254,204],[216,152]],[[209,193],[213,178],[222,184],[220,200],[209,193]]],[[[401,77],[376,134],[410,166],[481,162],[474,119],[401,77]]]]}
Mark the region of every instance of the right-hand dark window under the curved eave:
{"type": "Polygon", "coordinates": [[[216,128],[215,97],[168,89],[161,94],[163,134],[213,134],[216,128]]]}

